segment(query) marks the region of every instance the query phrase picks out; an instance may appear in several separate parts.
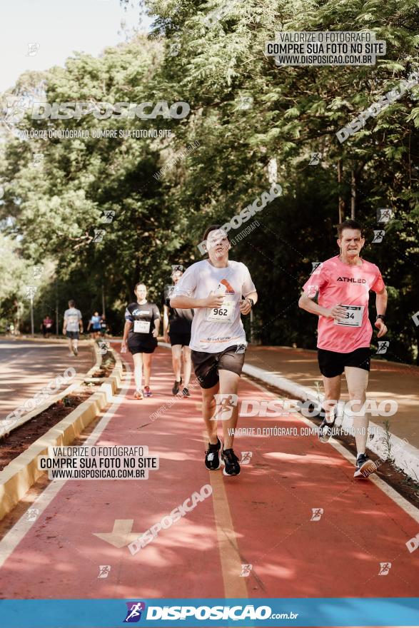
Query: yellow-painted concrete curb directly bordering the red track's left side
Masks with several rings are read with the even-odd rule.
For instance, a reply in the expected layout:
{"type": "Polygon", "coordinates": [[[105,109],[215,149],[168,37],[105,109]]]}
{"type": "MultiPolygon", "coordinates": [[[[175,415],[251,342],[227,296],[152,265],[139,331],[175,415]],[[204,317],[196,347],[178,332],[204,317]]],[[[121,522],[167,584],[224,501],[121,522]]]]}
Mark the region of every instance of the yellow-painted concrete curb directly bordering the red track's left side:
{"type": "Polygon", "coordinates": [[[37,439],[28,449],[9,462],[0,472],[0,520],[7,515],[26,494],[36,480],[45,473],[37,468],[39,455],[47,455],[48,447],[71,445],[71,442],[91,423],[99,412],[111,402],[112,396],[121,388],[123,367],[118,355],[112,374],[89,399],[76,410],[37,439]]]}

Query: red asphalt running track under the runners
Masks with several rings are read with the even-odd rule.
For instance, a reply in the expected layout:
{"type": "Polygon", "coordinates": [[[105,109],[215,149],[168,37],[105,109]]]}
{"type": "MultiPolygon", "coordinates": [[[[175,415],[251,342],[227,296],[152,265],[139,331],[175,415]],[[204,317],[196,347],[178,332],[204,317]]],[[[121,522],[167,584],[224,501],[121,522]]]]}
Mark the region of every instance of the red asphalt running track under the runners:
{"type": "MultiPolygon", "coordinates": [[[[131,355],[121,357],[132,367],[131,355]]],[[[170,352],[159,347],[153,397],[133,400],[132,379],[97,442],[147,445],[160,457],[159,470],[148,480],[63,483],[0,569],[2,598],[418,594],[418,557],[405,545],[418,523],[375,483],[353,480],[353,464],[339,450],[315,435],[237,437],[239,457],[252,452],[241,475],[208,472],[198,389],[150,420],[173,401],[172,383],[170,352]],[[213,495],[135,555],[95,536],[111,532],[115,520],[133,520],[138,536],[210,483],[213,495]],[[323,508],[318,521],[311,520],[314,508],[323,508]],[[380,562],[392,564],[388,575],[378,575],[380,562]],[[252,565],[248,577],[241,564],[252,565]],[[108,577],[98,578],[99,565],[111,566],[108,577]]],[[[273,397],[246,378],[240,396],[273,397]]],[[[293,415],[241,417],[238,425],[300,430],[308,424],[293,415]]]]}

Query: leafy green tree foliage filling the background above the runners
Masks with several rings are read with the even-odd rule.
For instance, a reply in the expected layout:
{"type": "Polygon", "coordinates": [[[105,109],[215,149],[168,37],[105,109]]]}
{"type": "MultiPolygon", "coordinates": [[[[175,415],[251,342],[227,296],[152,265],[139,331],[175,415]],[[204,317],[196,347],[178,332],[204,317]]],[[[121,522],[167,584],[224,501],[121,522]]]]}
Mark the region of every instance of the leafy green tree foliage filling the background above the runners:
{"type": "MultiPolygon", "coordinates": [[[[335,133],[418,69],[415,1],[149,0],[146,6],[155,18],[151,36],[106,49],[99,59],[77,54],[66,68],[44,72],[47,99],[186,101],[191,113],[153,121],[26,118],[26,128],[156,128],[171,129],[173,137],[8,137],[1,213],[5,231],[20,238],[21,255],[54,260],[60,293],[71,288],[81,308],[100,306],[105,283],[117,331],[133,284],[145,280],[161,303],[170,265],[197,260],[208,223],[225,223],[268,190],[275,160],[283,196],[255,216],[261,226],[232,251],[248,264],[260,293],[258,338],[315,347],[315,320],[298,310],[298,295],[311,263],[337,252],[339,198],[348,217],[355,195],[356,218],[368,229],[365,257],[380,265],[391,294],[386,357],[414,360],[418,86],[344,143],[335,133]],[[220,19],[208,23],[221,9],[220,19]],[[277,67],[263,51],[279,29],[370,30],[387,42],[387,54],[375,66],[277,67]],[[193,142],[188,156],[174,158],[193,142]],[[36,152],[44,153],[41,172],[29,165],[36,152]],[[313,152],[321,153],[317,166],[309,165],[313,152]],[[153,174],[168,164],[156,180],[153,174]],[[379,207],[393,208],[394,219],[377,244],[379,207]],[[115,211],[109,225],[101,223],[104,211],[115,211]],[[106,230],[100,243],[92,241],[95,228],[106,230]]],[[[16,90],[25,84],[33,86],[34,76],[21,77],[16,90]]]]}

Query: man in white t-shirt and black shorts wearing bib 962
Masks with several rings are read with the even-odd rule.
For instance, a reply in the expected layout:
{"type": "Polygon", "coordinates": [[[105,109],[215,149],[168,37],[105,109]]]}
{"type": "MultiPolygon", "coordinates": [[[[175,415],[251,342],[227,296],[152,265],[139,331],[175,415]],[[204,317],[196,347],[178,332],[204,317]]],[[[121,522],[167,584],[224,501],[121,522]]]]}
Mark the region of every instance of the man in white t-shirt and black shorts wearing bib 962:
{"type": "Polygon", "coordinates": [[[206,467],[213,471],[223,464],[224,475],[238,475],[240,465],[233,452],[233,431],[238,420],[237,390],[247,346],[240,317],[251,311],[258,295],[248,268],[228,260],[231,245],[220,226],[208,227],[203,240],[208,258],[183,273],[170,305],[192,308],[194,312],[189,346],[201,385],[203,420],[208,430],[206,467]],[[218,418],[223,420],[222,449],[217,435],[218,418]]]}

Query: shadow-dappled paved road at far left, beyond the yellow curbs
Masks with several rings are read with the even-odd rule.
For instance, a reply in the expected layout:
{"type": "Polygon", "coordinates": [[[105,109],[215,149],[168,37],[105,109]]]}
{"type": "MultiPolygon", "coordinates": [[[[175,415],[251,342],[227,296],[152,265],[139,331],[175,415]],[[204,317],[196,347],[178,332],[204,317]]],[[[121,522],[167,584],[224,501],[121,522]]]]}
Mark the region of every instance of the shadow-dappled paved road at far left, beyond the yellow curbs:
{"type": "Polygon", "coordinates": [[[69,356],[66,340],[0,340],[0,417],[31,399],[69,366],[77,373],[86,373],[94,365],[94,353],[84,341],[79,349],[75,358],[69,356]]]}

